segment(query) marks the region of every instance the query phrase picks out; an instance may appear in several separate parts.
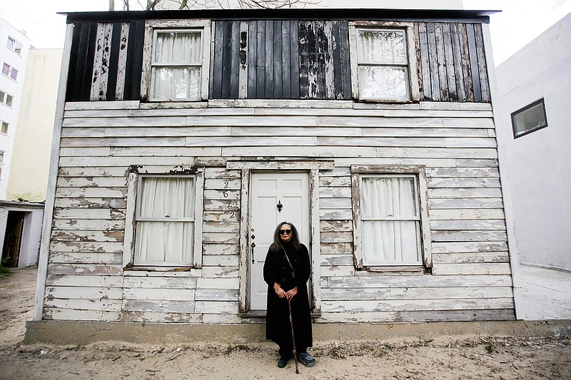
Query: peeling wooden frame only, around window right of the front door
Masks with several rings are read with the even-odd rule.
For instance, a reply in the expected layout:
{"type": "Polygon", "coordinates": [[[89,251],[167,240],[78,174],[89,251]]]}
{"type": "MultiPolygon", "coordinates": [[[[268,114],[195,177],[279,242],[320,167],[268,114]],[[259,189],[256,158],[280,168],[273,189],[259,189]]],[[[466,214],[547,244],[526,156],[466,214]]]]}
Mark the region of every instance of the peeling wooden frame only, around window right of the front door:
{"type": "MultiPolygon", "coordinates": [[[[351,165],[351,191],[353,195],[353,254],[355,267],[365,272],[428,272],[433,266],[432,245],[430,240],[430,223],[428,218],[428,184],[424,166],[381,166],[381,165],[351,165]],[[420,263],[366,265],[363,254],[363,216],[361,215],[361,181],[363,178],[415,178],[415,191],[418,199],[418,253],[420,263]]],[[[385,219],[383,219],[385,220],[385,219]]],[[[386,218],[386,220],[389,220],[386,218]]],[[[393,219],[396,220],[396,219],[393,219]]],[[[412,219],[411,219],[412,220],[412,219]]]]}

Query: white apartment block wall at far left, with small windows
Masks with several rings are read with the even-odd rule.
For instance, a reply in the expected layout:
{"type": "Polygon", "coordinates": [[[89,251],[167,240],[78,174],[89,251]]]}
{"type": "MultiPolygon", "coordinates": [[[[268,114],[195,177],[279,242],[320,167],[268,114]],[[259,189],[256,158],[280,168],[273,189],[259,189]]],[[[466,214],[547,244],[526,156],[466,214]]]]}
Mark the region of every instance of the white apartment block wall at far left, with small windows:
{"type": "Polygon", "coordinates": [[[0,103],[0,120],[9,123],[8,133],[0,133],[0,151],[4,153],[0,174],[0,200],[6,199],[6,188],[11,165],[11,154],[14,146],[14,135],[18,122],[18,110],[21,103],[21,93],[26,75],[26,60],[30,49],[30,40],[18,29],[11,26],[6,20],[0,18],[0,67],[4,63],[18,70],[16,81],[0,73],[0,91],[9,93],[14,97],[11,106],[0,103]],[[14,38],[22,44],[21,53],[18,54],[6,46],[8,38],[14,38]]]}

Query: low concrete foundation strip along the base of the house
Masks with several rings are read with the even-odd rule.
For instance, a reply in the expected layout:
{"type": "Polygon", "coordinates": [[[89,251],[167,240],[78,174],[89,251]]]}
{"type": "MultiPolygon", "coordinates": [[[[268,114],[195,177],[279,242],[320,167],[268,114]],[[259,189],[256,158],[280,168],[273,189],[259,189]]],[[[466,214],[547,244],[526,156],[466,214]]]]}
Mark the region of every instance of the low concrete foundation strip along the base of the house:
{"type": "MultiPolygon", "coordinates": [[[[245,344],[265,342],[265,329],[265,324],[28,321],[24,344],[85,345],[106,341],[136,344],[245,344]]],[[[567,337],[571,335],[571,320],[313,325],[315,343],[474,335],[567,337]]]]}

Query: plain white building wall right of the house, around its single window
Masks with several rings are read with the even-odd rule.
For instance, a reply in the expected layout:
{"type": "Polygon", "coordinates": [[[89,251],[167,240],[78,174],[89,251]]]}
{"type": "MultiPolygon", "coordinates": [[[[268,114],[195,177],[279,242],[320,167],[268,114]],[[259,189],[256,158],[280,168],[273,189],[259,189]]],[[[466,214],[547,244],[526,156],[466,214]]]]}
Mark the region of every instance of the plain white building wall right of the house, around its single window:
{"type": "Polygon", "coordinates": [[[496,69],[520,261],[571,269],[571,14],[496,69]],[[515,139],[510,114],[545,99],[547,128],[515,139]]]}

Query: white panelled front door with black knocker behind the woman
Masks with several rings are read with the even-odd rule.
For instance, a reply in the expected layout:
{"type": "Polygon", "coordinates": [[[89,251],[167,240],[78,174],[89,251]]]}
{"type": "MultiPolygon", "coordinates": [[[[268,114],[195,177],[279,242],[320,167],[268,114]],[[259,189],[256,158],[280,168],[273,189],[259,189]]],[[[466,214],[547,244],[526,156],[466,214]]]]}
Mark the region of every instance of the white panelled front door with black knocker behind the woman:
{"type": "Polygon", "coordinates": [[[250,309],[266,310],[268,284],[263,263],[273,232],[281,222],[292,222],[300,242],[309,248],[308,173],[252,173],[250,234],[250,309]]]}

